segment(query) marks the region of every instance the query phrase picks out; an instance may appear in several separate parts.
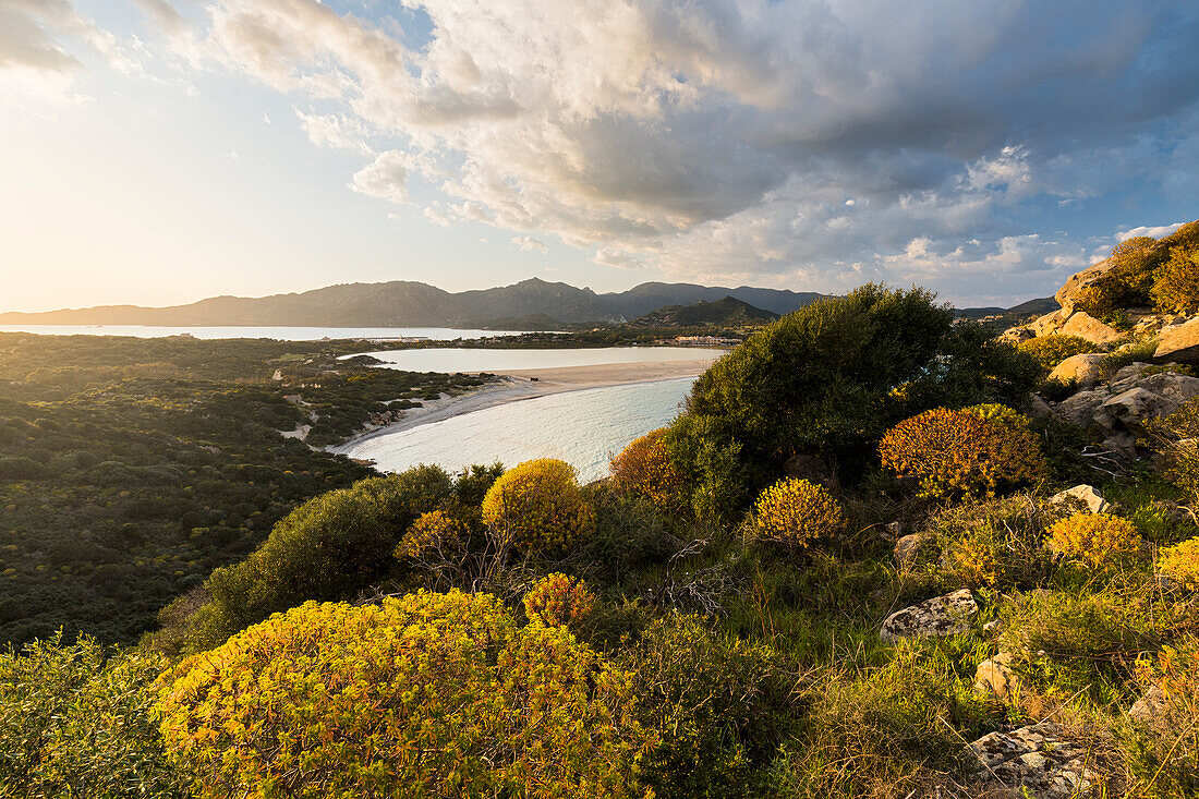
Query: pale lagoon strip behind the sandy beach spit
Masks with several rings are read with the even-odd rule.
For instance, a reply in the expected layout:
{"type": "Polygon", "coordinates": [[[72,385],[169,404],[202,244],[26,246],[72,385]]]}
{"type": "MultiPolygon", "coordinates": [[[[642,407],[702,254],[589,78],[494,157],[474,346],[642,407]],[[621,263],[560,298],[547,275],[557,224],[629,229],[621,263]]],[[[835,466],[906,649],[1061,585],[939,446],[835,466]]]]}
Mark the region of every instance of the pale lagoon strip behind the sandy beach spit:
{"type": "Polygon", "coordinates": [[[723,349],[703,347],[595,347],[585,349],[392,349],[374,355],[385,366],[410,372],[508,372],[552,370],[602,364],[652,364],[656,361],[715,361],[723,349]]]}

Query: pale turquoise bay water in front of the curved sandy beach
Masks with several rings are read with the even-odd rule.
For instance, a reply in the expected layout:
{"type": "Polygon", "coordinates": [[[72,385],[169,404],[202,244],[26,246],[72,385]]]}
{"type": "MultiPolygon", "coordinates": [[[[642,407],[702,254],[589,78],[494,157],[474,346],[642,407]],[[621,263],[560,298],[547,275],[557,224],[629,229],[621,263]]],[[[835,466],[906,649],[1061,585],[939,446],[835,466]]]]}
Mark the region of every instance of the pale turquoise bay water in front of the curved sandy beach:
{"type": "Polygon", "coordinates": [[[384,433],[347,451],[382,471],[418,463],[450,470],[472,463],[516,465],[561,458],[583,481],[608,474],[611,456],[679,413],[694,378],[586,389],[520,400],[408,431],[384,433]]]}

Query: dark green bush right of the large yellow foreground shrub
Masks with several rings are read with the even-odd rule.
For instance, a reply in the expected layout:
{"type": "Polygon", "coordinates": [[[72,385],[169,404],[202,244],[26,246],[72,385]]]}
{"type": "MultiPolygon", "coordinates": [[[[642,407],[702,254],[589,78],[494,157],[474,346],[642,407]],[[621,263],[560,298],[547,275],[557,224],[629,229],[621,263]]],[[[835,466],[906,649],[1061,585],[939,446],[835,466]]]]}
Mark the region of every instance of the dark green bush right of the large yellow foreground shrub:
{"type": "Polygon", "coordinates": [[[641,723],[661,734],[644,763],[655,795],[758,795],[760,769],[799,722],[795,677],[777,653],[673,613],[620,663],[633,674],[641,723]]]}

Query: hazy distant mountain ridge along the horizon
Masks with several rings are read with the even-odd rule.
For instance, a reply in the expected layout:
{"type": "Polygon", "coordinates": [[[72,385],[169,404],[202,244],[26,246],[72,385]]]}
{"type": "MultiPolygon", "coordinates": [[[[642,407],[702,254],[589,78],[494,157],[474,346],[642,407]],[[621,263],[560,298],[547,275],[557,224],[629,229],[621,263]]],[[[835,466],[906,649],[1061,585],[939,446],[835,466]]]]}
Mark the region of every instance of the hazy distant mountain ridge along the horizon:
{"type": "Polygon", "coordinates": [[[343,283],[264,298],[215,296],[161,308],[112,305],[41,313],[0,313],[0,324],[44,325],[281,325],[317,328],[460,328],[543,314],[565,323],[625,322],[668,306],[716,302],[725,296],[784,314],[825,295],[741,286],[641,283],[627,292],[530,278],[490,289],[451,293],[428,283],[343,283]]]}

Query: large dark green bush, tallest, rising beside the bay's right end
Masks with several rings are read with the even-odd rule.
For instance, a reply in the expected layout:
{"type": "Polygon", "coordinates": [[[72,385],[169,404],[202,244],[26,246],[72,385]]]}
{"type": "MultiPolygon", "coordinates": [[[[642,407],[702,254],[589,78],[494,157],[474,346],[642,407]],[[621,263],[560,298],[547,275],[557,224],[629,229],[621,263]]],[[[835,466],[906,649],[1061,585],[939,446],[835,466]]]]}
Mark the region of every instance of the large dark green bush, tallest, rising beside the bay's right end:
{"type": "Polygon", "coordinates": [[[697,380],[670,428],[693,507],[734,515],[797,453],[854,479],[924,408],[1025,401],[1036,365],[990,335],[924,290],[874,284],[767,325],[697,380]]]}

